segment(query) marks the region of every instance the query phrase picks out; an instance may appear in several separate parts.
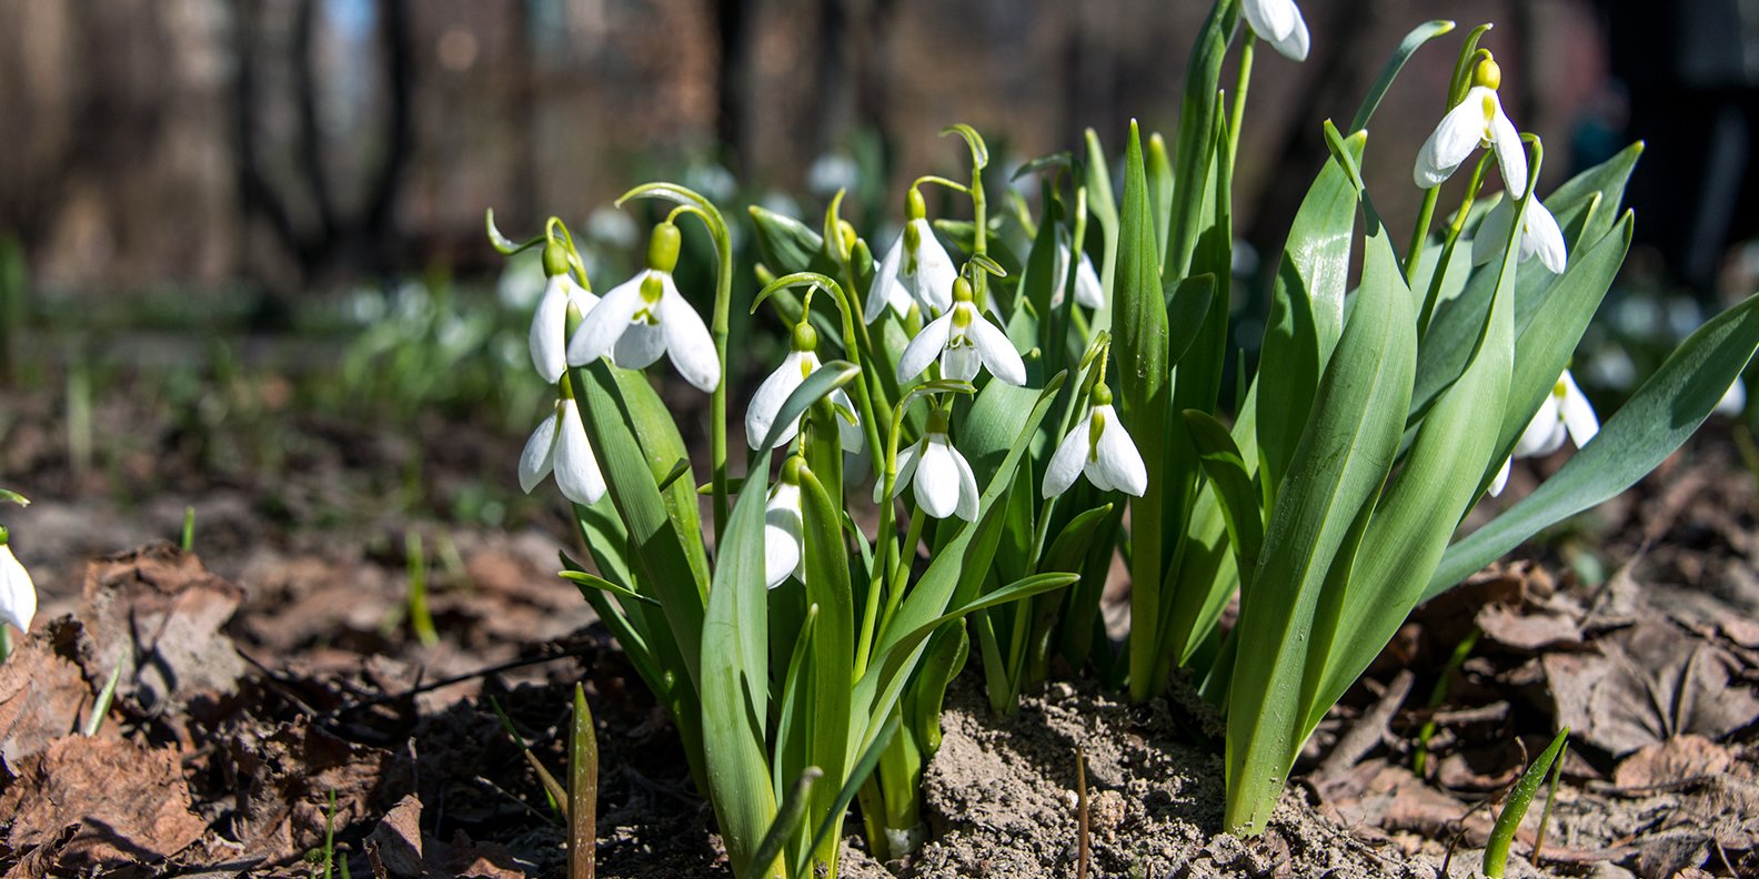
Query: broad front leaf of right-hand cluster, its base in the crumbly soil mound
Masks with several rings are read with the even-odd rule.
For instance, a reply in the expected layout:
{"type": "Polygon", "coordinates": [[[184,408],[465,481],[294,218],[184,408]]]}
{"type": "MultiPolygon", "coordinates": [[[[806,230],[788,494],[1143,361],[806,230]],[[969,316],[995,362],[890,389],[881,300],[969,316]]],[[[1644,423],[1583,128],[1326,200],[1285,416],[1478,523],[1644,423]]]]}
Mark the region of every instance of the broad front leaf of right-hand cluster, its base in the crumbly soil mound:
{"type": "MultiPolygon", "coordinates": [[[[1367,207],[1367,206],[1365,206],[1367,207]]],[[[1393,466],[1416,367],[1416,315],[1386,230],[1367,209],[1361,292],[1326,364],[1312,415],[1277,494],[1252,589],[1240,603],[1240,652],[1228,698],[1231,832],[1270,819],[1303,723],[1298,701],[1325,578],[1393,466]]]]}

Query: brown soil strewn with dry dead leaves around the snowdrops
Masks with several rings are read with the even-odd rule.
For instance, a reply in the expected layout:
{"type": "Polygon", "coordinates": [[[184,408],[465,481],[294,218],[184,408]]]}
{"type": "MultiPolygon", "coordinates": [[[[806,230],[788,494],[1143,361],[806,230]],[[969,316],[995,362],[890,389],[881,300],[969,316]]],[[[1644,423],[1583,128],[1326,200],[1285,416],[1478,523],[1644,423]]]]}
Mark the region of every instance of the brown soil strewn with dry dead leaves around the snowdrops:
{"type": "MultiPolygon", "coordinates": [[[[53,399],[12,413],[0,473],[39,503],[7,524],[42,612],[0,665],[5,875],[313,875],[325,828],[352,875],[559,875],[561,821],[494,705],[559,772],[577,682],[602,747],[600,875],[730,875],[672,724],[554,577],[572,538],[559,503],[517,494],[521,436],[288,413],[266,468],[118,403],[81,469],[53,399]],[[459,513],[485,492],[503,513],[459,513]],[[193,554],[155,543],[185,505],[193,554]],[[405,612],[412,533],[427,645],[405,612]],[[114,705],[79,735],[111,675],[114,705]]],[[[855,840],[843,874],[1077,875],[1082,766],[1096,877],[1469,875],[1497,802],[1569,724],[1537,865],[1536,805],[1509,875],[1759,875],[1755,510],[1712,431],[1421,608],[1252,839],[1221,833],[1221,733],[1184,689],[1133,707],[1062,680],[996,717],[973,663],[925,777],[932,839],[892,872],[855,840]]]]}

